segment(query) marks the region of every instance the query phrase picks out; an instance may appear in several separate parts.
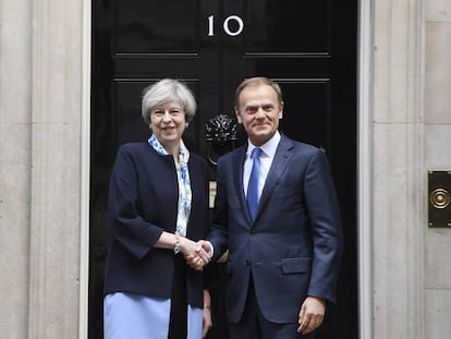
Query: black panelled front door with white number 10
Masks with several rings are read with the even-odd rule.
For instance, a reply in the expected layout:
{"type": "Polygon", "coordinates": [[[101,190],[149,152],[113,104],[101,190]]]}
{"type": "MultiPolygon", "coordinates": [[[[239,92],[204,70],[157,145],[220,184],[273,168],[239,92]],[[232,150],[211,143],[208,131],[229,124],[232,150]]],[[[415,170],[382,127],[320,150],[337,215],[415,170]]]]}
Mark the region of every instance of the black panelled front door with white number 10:
{"type": "Polygon", "coordinates": [[[93,0],[89,338],[102,338],[112,162],[121,144],[149,135],[143,88],[163,77],[192,87],[199,107],[184,140],[207,157],[205,123],[233,117],[235,87],[256,75],[282,87],[280,130],[329,157],[344,253],[339,304],[317,338],[357,338],[356,25],[357,0],[93,0]]]}

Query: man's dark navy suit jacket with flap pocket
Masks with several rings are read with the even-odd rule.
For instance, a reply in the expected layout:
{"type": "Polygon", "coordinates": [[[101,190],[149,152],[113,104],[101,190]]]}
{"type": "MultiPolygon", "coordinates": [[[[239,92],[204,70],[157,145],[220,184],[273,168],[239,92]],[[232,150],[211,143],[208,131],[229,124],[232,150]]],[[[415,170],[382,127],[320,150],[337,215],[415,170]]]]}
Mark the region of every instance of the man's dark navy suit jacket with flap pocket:
{"type": "Polygon", "coordinates": [[[297,323],[307,295],[336,301],[342,233],[329,165],[322,150],[282,135],[252,222],[243,189],[245,153],[246,146],[218,160],[208,235],[215,258],[229,249],[228,317],[241,319],[252,273],[263,315],[297,323]]]}

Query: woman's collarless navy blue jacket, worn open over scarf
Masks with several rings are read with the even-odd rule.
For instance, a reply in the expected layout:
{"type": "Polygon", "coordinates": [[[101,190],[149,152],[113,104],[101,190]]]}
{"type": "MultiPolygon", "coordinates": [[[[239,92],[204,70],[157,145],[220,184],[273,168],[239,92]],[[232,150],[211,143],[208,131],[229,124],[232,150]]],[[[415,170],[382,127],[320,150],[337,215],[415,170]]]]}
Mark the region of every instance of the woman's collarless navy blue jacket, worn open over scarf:
{"type": "MultiPolygon", "coordinates": [[[[192,209],[186,237],[205,239],[208,231],[208,165],[193,153],[188,161],[192,209]]],[[[179,184],[172,155],[161,156],[147,143],[120,147],[109,187],[111,241],[105,293],[132,292],[171,298],[174,252],[155,249],[163,231],[174,232],[179,184]]],[[[182,254],[178,254],[182,255],[182,254]]],[[[188,304],[203,307],[203,273],[187,269],[188,304]]]]}

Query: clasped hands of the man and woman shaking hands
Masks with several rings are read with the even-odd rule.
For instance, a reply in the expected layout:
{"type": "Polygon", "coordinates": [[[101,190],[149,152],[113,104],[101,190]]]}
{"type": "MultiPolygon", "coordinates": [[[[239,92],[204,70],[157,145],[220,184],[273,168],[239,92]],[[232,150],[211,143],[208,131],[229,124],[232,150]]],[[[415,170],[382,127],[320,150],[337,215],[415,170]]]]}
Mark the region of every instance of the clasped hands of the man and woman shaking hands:
{"type": "Polygon", "coordinates": [[[214,255],[214,249],[209,241],[194,242],[187,238],[181,238],[180,252],[182,252],[186,264],[195,270],[203,270],[214,255]]]}

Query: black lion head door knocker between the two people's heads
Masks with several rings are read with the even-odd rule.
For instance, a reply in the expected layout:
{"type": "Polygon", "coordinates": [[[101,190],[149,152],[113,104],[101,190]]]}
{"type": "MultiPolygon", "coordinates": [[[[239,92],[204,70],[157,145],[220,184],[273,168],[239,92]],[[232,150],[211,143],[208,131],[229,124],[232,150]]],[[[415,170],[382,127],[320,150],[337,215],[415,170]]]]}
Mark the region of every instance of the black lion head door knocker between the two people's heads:
{"type": "Polygon", "coordinates": [[[212,117],[205,124],[205,140],[208,161],[216,166],[220,156],[235,148],[236,122],[227,114],[212,117]]]}

